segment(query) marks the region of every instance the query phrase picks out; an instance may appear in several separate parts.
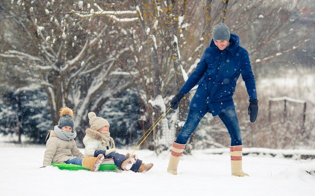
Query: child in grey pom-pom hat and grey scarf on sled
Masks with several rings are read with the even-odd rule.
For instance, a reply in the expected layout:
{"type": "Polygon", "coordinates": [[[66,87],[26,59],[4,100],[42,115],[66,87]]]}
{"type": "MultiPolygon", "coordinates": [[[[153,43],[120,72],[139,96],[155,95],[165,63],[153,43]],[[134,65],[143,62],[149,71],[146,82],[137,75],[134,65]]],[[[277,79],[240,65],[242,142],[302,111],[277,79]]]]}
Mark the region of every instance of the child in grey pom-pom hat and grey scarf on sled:
{"type": "Polygon", "coordinates": [[[73,111],[67,107],[60,109],[60,119],[54,130],[47,134],[46,151],[44,154],[43,167],[51,163],[67,163],[82,165],[92,171],[97,171],[103,162],[104,155],[97,157],[84,157],[77,148],[74,138],[76,132],[73,129],[73,111]]]}

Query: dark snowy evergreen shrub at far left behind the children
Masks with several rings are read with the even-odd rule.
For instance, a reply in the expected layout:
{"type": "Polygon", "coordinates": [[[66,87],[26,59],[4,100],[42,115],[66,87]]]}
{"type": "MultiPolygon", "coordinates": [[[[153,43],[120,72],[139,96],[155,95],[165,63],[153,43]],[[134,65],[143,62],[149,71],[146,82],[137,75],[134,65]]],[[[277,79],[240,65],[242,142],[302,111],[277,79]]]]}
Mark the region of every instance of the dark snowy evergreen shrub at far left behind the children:
{"type": "Polygon", "coordinates": [[[27,86],[3,92],[0,104],[0,134],[15,134],[17,142],[25,135],[33,143],[44,143],[52,129],[47,94],[39,86],[27,86]]]}

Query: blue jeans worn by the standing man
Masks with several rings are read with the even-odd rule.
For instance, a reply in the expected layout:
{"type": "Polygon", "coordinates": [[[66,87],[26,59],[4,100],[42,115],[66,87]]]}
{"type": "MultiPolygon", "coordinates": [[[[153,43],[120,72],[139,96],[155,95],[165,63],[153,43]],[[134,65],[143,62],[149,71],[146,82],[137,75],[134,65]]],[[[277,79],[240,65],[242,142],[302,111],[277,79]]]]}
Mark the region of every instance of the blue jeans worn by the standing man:
{"type": "MultiPolygon", "coordinates": [[[[179,132],[176,143],[186,144],[191,134],[195,131],[197,125],[204,117],[206,113],[195,112],[189,110],[188,117],[182,130],[179,132]]],[[[241,129],[239,125],[239,119],[235,110],[227,110],[220,113],[219,118],[224,123],[230,137],[231,146],[242,145],[241,129]]]]}

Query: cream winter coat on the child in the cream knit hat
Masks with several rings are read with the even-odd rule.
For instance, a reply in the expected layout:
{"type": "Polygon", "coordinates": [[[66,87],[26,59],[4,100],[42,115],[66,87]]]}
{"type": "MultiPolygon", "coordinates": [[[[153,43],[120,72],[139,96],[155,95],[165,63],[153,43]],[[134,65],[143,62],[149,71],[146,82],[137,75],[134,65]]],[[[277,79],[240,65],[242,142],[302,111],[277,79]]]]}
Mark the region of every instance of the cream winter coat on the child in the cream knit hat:
{"type": "Polygon", "coordinates": [[[94,129],[88,128],[86,130],[86,136],[83,138],[83,143],[86,146],[84,155],[94,156],[96,150],[108,150],[115,148],[115,144],[112,143],[111,146],[107,145],[102,139],[102,133],[94,129]]]}

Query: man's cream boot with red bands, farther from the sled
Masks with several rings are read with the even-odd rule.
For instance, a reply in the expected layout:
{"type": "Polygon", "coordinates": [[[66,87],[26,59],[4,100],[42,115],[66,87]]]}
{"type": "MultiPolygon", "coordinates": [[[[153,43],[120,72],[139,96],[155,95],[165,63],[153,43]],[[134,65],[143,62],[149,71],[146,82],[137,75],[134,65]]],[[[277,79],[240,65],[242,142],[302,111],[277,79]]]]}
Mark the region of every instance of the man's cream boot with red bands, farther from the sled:
{"type": "Polygon", "coordinates": [[[230,146],[231,153],[231,173],[234,176],[249,176],[247,173],[243,172],[242,169],[242,151],[243,146],[230,146]]]}

